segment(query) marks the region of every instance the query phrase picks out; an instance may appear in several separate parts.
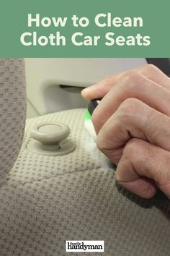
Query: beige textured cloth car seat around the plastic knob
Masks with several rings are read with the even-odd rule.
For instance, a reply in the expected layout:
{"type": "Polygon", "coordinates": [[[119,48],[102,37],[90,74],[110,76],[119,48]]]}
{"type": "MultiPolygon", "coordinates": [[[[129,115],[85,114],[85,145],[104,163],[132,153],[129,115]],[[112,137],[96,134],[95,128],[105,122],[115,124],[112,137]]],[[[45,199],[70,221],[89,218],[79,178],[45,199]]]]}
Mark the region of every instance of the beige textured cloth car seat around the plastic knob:
{"type": "Polygon", "coordinates": [[[23,77],[21,59],[0,61],[0,255],[69,255],[66,240],[104,240],[104,253],[70,255],[169,256],[170,200],[161,192],[145,200],[116,183],[115,167],[84,129],[84,109],[27,119],[17,157],[23,77]],[[73,152],[50,156],[28,150],[30,129],[48,121],[70,127],[73,152]]]}

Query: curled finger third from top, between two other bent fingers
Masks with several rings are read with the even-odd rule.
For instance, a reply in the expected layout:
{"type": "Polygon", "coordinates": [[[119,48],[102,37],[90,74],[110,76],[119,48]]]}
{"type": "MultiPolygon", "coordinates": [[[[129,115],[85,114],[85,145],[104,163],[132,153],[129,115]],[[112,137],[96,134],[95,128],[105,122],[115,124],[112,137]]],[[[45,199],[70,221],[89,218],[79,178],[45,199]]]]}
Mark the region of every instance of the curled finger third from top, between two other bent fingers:
{"type": "Polygon", "coordinates": [[[132,137],[170,150],[170,118],[135,98],[124,101],[97,135],[97,146],[117,163],[132,137]]]}

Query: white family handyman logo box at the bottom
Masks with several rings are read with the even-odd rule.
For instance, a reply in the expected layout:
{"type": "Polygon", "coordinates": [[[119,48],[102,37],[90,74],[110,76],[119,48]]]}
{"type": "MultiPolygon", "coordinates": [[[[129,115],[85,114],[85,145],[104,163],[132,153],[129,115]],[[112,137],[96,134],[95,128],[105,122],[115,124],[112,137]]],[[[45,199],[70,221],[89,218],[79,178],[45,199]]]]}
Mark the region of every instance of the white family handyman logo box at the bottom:
{"type": "Polygon", "coordinates": [[[66,241],[66,252],[104,252],[104,241],[66,241]]]}

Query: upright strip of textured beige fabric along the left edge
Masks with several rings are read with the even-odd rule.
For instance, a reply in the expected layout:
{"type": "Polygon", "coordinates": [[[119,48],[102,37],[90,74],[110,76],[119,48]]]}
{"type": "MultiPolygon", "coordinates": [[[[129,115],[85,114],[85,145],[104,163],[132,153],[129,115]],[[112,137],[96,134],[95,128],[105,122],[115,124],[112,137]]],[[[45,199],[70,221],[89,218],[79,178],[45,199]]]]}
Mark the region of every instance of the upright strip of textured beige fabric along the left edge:
{"type": "Polygon", "coordinates": [[[22,144],[25,102],[23,59],[0,59],[0,183],[22,144]]]}

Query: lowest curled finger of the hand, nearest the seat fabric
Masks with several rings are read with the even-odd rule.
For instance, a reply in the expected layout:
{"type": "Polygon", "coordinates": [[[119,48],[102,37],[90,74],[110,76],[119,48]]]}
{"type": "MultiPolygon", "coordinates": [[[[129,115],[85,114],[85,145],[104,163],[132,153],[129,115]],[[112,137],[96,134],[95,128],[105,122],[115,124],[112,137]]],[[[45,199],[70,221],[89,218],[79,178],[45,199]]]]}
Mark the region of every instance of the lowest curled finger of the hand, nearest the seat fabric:
{"type": "Polygon", "coordinates": [[[170,153],[144,140],[130,140],[117,166],[117,182],[140,197],[156,194],[156,186],[170,198],[170,153]],[[154,182],[153,182],[154,181],[154,182]]]}

